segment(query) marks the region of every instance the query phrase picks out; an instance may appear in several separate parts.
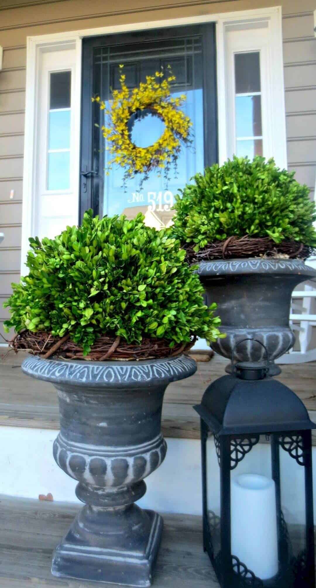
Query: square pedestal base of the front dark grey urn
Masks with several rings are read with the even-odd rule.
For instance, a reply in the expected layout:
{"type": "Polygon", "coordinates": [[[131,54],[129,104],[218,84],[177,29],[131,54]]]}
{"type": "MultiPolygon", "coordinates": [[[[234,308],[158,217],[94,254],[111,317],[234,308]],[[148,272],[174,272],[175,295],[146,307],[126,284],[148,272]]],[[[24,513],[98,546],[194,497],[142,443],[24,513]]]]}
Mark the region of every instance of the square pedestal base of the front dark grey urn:
{"type": "Polygon", "coordinates": [[[84,506],[56,547],[52,574],[122,586],[150,586],[163,520],[137,505],[84,506]]]}

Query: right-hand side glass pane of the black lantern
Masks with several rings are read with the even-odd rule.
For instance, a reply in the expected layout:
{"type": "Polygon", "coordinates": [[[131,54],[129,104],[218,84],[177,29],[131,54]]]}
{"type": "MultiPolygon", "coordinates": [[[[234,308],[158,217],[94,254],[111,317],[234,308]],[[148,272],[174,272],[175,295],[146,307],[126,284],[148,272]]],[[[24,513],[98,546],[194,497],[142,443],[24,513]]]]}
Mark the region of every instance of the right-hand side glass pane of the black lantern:
{"type": "MultiPolygon", "coordinates": [[[[294,454],[300,437],[285,437],[285,447],[294,454]]],[[[298,450],[300,452],[300,450],[298,450]]],[[[300,458],[298,458],[300,460],[300,458]]],[[[301,460],[300,460],[301,461],[301,460]]],[[[280,447],[282,534],[288,537],[289,556],[299,564],[306,550],[305,467],[280,447]]]]}

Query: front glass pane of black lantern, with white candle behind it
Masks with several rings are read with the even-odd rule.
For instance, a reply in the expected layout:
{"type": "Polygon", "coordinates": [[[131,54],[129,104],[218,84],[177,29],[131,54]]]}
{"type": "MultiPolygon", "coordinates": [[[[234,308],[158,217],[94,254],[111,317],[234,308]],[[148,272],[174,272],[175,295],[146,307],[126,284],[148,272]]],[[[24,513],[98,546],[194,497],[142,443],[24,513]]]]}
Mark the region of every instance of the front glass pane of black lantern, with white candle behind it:
{"type": "Polygon", "coordinates": [[[277,510],[265,436],[232,436],[231,468],[233,570],[270,580],[278,573],[277,510]]]}

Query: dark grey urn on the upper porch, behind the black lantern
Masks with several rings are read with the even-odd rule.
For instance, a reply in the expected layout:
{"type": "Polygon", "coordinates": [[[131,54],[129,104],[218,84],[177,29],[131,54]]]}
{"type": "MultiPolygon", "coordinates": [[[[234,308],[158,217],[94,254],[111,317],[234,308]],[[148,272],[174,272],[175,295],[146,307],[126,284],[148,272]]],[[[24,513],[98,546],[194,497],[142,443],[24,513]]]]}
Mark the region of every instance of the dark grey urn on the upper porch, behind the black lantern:
{"type": "MultiPolygon", "coordinates": [[[[292,348],[291,295],[295,286],[316,277],[316,270],[301,259],[229,259],[199,263],[198,274],[207,301],[217,303],[225,339],[212,343],[219,355],[231,359],[234,345],[245,338],[258,339],[268,349],[270,375],[281,370],[274,360],[292,348]]],[[[236,359],[260,361],[264,349],[251,341],[238,345],[236,359]]]]}

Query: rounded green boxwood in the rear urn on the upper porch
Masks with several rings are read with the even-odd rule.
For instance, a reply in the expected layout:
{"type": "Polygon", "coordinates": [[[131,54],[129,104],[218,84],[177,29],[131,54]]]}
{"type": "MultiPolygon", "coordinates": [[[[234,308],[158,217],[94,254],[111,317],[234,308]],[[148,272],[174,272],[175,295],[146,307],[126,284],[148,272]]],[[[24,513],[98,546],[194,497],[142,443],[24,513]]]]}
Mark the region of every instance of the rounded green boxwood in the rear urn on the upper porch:
{"type": "Polygon", "coordinates": [[[174,235],[194,250],[230,236],[270,237],[316,246],[310,190],[273,159],[234,157],[212,165],[176,196],[174,235]]]}

